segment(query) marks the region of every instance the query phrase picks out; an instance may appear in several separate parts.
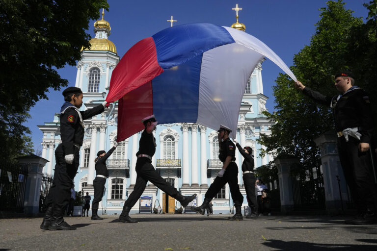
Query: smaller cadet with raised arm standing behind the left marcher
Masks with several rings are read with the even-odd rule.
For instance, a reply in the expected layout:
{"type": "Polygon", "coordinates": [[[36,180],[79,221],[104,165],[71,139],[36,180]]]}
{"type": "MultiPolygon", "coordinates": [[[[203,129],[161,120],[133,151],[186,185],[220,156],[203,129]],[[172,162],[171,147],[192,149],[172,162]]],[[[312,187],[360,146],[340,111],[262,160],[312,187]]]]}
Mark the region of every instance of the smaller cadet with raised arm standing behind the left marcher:
{"type": "Polygon", "coordinates": [[[98,212],[98,204],[102,201],[102,196],[105,190],[105,183],[106,179],[108,178],[108,167],[106,166],[106,160],[118,146],[118,143],[114,143],[114,146],[106,153],[106,151],[99,151],[97,153],[96,158],[96,177],[93,180],[93,187],[94,187],[94,199],[92,201],[92,217],[91,220],[103,220],[103,218],[99,217],[98,212]]]}

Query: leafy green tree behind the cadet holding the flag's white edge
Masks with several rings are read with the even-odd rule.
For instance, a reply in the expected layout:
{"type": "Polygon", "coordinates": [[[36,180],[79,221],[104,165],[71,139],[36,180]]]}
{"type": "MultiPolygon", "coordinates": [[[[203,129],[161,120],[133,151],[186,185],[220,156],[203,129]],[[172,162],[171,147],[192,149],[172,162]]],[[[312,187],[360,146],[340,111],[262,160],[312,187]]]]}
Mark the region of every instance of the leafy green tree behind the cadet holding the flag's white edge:
{"type": "MultiPolygon", "coordinates": [[[[349,69],[356,75],[356,84],[373,97],[377,92],[377,88],[371,88],[377,74],[376,15],[363,23],[344,5],[342,0],[328,1],[327,6],[321,8],[321,20],[316,24],[310,45],[294,56],[291,70],[305,86],[331,96],[336,94],[334,73],[349,69]]],[[[308,169],[321,163],[313,139],[333,128],[334,122],[328,107],[305,97],[293,84],[288,75],[280,74],[276,79],[273,93],[277,111],[266,113],[275,124],[271,126],[271,135],[261,135],[259,141],[267,147],[262,154],[276,151],[293,155],[308,169]]],[[[377,108],[376,102],[372,105],[377,108]]]]}

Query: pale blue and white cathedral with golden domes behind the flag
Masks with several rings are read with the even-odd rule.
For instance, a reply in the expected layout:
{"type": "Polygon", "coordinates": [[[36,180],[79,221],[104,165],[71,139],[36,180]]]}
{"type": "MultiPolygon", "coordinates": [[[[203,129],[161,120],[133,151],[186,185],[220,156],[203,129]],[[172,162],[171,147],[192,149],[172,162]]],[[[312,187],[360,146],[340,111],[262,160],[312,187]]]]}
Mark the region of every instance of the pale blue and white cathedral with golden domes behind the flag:
{"type": "MultiPolygon", "coordinates": [[[[238,22],[231,27],[245,31],[245,25],[238,22]]],[[[83,106],[89,109],[106,99],[111,73],[120,57],[116,46],[108,38],[110,24],[102,19],[94,23],[95,37],[90,40],[90,49],[81,50],[81,60],[77,63],[75,86],[83,92],[83,106]]],[[[260,134],[270,134],[272,122],[263,115],[266,111],[268,97],[263,94],[262,63],[258,63],[250,75],[240,107],[237,140],[242,147],[249,146],[254,151],[255,168],[266,165],[273,156],[259,153],[264,146],[258,144],[260,134]]],[[[56,107],[58,111],[59,107],[56,107]]],[[[86,192],[93,199],[93,179],[96,176],[94,165],[96,154],[100,150],[108,151],[117,137],[118,122],[117,102],[111,103],[105,111],[90,120],[85,120],[85,136],[80,149],[80,166],[74,179],[75,190],[86,192]]],[[[140,122],[141,123],[141,122],[140,122]]],[[[54,174],[54,151],[60,140],[59,113],[55,113],[52,122],[38,126],[43,132],[42,157],[49,160],[43,169],[46,174],[54,174]]],[[[99,205],[99,214],[120,214],[124,201],[134,190],[136,181],[136,152],[141,132],[119,142],[118,147],[107,160],[109,177],[105,193],[99,205]]],[[[222,168],[218,159],[217,131],[192,123],[158,125],[154,132],[156,154],[152,164],[160,175],[182,195],[197,194],[197,198],[188,205],[184,212],[191,212],[190,205],[201,204],[217,172],[222,168]]],[[[236,151],[236,163],[239,167],[239,185],[244,197],[243,206],[247,206],[246,192],[242,184],[241,164],[243,158],[236,151]]],[[[276,182],[269,184],[276,188],[276,182]]],[[[272,186],[272,187],[271,187],[272,186]]],[[[229,213],[233,208],[228,184],[212,200],[214,213],[229,213]]],[[[141,199],[132,208],[131,213],[147,212],[150,207],[161,205],[164,213],[174,213],[180,207],[174,198],[165,196],[164,192],[148,183],[141,199]],[[146,209],[147,208],[147,209],[146,209]]]]}

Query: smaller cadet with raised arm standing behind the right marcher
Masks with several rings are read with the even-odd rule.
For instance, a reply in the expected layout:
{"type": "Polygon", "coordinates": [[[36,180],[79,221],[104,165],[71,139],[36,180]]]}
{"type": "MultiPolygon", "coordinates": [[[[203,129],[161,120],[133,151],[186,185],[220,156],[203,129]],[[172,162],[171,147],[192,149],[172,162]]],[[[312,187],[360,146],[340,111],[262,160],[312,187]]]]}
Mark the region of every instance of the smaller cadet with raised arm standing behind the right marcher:
{"type": "Polygon", "coordinates": [[[254,219],[258,217],[258,204],[255,196],[255,175],[254,175],[254,155],[253,150],[250,147],[244,147],[238,144],[237,140],[233,140],[236,143],[238,151],[243,156],[242,162],[242,179],[246,190],[246,196],[250,207],[249,213],[246,215],[247,219],[254,219]]]}

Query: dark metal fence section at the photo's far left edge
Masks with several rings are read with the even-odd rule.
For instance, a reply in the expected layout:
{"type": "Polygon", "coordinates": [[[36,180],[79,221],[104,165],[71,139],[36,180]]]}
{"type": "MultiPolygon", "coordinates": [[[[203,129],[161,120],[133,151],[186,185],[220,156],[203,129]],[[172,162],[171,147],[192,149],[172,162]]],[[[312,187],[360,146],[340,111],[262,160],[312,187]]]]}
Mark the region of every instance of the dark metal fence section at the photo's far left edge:
{"type": "Polygon", "coordinates": [[[0,164],[0,211],[24,211],[27,165],[0,164]]]}

